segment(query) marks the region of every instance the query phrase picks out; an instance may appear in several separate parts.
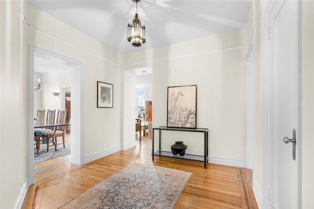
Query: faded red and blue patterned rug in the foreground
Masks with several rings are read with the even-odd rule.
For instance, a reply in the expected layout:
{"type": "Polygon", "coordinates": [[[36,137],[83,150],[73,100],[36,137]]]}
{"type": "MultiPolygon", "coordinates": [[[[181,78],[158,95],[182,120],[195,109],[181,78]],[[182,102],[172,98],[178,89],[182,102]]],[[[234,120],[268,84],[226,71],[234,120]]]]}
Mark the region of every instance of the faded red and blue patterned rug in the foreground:
{"type": "Polygon", "coordinates": [[[133,163],[60,209],[171,209],[191,175],[133,163]]]}

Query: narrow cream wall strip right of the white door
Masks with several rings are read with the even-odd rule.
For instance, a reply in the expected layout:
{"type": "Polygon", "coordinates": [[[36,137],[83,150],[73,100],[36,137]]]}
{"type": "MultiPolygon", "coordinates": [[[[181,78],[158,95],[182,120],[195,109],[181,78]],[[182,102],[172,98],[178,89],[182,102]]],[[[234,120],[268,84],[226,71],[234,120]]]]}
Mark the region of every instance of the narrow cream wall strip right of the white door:
{"type": "Polygon", "coordinates": [[[314,208],[314,1],[304,0],[302,24],[302,208],[314,208]]]}

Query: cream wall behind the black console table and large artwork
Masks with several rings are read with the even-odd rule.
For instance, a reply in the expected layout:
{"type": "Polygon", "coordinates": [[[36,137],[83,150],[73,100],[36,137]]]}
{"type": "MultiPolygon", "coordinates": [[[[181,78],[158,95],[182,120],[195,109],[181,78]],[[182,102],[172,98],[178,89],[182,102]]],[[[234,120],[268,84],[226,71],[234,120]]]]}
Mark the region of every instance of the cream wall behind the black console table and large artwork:
{"type": "MultiPolygon", "coordinates": [[[[166,125],[167,87],[196,84],[197,127],[209,128],[209,155],[244,166],[245,41],[244,29],[127,54],[126,69],[153,69],[153,127],[166,125]]],[[[202,134],[167,132],[161,148],[170,150],[177,139],[186,152],[204,153],[202,134]]]]}

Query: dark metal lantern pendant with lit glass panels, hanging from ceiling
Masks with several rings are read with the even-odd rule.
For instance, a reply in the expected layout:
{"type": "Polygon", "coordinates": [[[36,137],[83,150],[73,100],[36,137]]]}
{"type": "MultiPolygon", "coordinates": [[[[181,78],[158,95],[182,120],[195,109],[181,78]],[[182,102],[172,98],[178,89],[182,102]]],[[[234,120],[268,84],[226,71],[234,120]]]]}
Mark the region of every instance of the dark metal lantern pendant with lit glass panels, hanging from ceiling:
{"type": "Polygon", "coordinates": [[[145,25],[141,25],[140,20],[138,19],[137,14],[137,2],[141,0],[132,0],[136,3],[136,12],[135,18],[133,19],[133,23],[128,24],[128,41],[132,43],[132,46],[142,46],[142,44],[146,43],[146,34],[145,34],[145,25]]]}

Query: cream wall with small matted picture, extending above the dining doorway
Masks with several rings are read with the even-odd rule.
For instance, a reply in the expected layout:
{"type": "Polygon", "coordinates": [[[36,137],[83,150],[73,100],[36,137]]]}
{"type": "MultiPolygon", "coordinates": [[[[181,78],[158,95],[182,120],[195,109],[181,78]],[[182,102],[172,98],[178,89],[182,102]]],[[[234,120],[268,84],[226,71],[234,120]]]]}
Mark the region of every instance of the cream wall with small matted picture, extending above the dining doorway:
{"type": "Polygon", "coordinates": [[[120,147],[121,127],[112,123],[110,118],[121,118],[123,80],[118,62],[122,60],[122,55],[33,6],[27,6],[27,23],[37,28],[28,28],[27,44],[77,60],[84,65],[82,129],[85,159],[97,158],[94,154],[105,152],[109,144],[111,147],[120,147]],[[68,34],[72,36],[69,37],[68,34]],[[97,108],[97,81],[113,84],[113,108],[97,108]]]}

